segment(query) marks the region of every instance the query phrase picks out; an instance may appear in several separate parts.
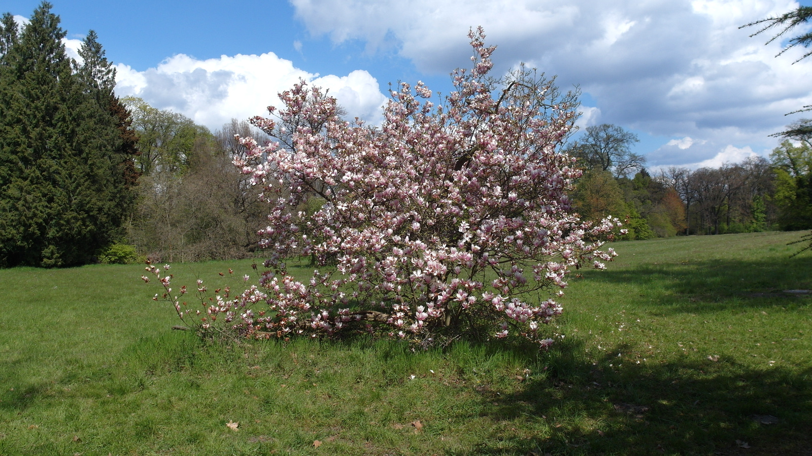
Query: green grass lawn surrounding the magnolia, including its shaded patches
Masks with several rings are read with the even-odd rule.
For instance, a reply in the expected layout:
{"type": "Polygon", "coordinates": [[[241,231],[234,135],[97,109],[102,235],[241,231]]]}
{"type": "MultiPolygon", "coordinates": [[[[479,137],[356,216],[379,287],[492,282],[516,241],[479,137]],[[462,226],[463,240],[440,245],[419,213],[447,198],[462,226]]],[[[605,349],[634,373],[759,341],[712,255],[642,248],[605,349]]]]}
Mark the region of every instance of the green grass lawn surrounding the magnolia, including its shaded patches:
{"type": "MultiPolygon", "coordinates": [[[[541,354],[206,342],[170,330],[141,266],[0,270],[0,454],[810,454],[799,235],[617,243],[541,354]]],[[[229,265],[171,272],[211,288],[229,265]]]]}

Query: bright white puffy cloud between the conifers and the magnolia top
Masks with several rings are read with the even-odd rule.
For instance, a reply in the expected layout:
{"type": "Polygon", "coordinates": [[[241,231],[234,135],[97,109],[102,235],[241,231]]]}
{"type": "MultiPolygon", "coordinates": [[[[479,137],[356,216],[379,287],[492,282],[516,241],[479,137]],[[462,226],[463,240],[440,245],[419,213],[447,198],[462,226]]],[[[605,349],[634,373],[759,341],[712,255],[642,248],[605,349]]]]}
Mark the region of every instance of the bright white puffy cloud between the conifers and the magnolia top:
{"type": "Polygon", "coordinates": [[[144,98],[153,107],[179,112],[212,130],[231,118],[243,120],[267,114],[267,106],[279,107],[277,94],[299,80],[329,88],[349,118],[359,117],[369,123],[380,122],[381,106],[387,101],[378,81],[367,71],[319,77],[274,53],[222,55],[206,60],[178,54],[146,71],[123,64],[116,68],[119,96],[144,98]]]}

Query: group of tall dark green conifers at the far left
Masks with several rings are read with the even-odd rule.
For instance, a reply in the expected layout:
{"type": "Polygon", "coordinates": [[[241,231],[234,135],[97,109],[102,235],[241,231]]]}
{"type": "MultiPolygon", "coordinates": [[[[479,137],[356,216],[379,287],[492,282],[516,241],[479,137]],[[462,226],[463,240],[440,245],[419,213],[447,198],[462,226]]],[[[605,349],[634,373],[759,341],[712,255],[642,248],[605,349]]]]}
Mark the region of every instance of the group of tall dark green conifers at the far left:
{"type": "MultiPolygon", "coordinates": [[[[132,198],[114,71],[91,32],[71,65],[59,18],[43,2],[2,55],[0,263],[93,260],[120,235],[132,198]]],[[[125,128],[126,129],[126,128],[125,128]]],[[[132,155],[132,154],[131,154],[132,155]]],[[[130,160],[132,162],[132,160],[130,160]]]]}

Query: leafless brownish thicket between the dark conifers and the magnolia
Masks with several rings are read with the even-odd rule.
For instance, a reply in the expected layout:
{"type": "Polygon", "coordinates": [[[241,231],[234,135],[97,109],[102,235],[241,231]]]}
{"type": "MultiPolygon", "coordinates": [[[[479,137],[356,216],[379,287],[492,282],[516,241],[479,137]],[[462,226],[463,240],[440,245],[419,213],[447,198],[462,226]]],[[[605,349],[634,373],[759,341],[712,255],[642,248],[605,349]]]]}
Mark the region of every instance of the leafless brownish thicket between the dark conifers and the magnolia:
{"type": "MultiPolygon", "coordinates": [[[[171,116],[164,118],[173,122],[171,116]]],[[[188,161],[182,172],[159,167],[141,178],[140,200],[129,229],[141,252],[170,261],[253,255],[265,208],[257,198],[261,187],[250,185],[251,176],[231,164],[246,152],[235,134],[257,136],[257,130],[232,120],[214,135],[199,132],[181,151],[188,161]]]]}

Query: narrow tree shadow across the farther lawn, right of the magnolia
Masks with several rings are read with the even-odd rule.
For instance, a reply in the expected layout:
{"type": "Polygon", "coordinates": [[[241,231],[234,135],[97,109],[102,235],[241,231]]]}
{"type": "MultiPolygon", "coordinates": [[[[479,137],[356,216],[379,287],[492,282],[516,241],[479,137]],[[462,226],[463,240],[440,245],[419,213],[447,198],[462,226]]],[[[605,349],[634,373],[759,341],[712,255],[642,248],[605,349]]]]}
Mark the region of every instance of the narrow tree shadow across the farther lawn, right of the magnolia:
{"type": "Polygon", "coordinates": [[[635,268],[589,272],[594,283],[628,284],[650,302],[672,312],[707,312],[730,308],[809,305],[812,257],[771,260],[696,260],[646,264],[635,268]]]}

